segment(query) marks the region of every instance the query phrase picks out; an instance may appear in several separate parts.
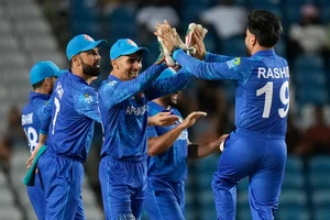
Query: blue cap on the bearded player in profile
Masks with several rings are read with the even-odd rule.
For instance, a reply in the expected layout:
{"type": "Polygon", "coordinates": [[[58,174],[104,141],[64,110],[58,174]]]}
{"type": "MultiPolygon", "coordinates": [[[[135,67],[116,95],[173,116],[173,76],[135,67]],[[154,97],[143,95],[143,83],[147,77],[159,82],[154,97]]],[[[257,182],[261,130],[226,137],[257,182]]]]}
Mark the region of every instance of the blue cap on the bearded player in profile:
{"type": "Polygon", "coordinates": [[[106,40],[94,41],[94,38],[91,38],[87,34],[79,34],[72,38],[67,44],[66,56],[68,61],[70,61],[73,56],[79,54],[80,52],[87,52],[89,50],[92,50],[103,42],[107,43],[106,40]]]}

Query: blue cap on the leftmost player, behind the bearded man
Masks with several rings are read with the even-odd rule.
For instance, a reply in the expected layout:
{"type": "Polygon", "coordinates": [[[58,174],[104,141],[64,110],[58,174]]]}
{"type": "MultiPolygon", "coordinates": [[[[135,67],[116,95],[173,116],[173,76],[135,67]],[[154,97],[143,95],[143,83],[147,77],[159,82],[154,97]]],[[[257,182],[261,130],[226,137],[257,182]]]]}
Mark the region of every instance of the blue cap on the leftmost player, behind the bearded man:
{"type": "Polygon", "coordinates": [[[47,77],[57,77],[61,69],[50,61],[36,63],[30,72],[31,85],[40,82],[47,77]]]}

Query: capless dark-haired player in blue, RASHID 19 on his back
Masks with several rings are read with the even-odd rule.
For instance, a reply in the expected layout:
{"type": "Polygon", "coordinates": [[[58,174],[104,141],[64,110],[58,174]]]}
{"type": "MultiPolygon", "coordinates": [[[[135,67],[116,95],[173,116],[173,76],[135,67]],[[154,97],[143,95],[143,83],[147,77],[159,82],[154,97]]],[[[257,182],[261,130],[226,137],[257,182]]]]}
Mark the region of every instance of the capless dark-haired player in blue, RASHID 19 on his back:
{"type": "MultiPolygon", "coordinates": [[[[224,142],[212,188],[219,220],[235,219],[235,186],[249,176],[249,200],[253,220],[274,219],[286,163],[285,134],[289,109],[289,70],[274,46],[283,32],[280,21],[264,10],[248,16],[245,45],[249,57],[206,53],[196,42],[198,61],[164,43],[173,58],[196,77],[235,82],[235,127],[224,142]]],[[[198,38],[198,37],[197,37],[198,38]]],[[[200,37],[199,37],[200,38],[200,37]]]]}

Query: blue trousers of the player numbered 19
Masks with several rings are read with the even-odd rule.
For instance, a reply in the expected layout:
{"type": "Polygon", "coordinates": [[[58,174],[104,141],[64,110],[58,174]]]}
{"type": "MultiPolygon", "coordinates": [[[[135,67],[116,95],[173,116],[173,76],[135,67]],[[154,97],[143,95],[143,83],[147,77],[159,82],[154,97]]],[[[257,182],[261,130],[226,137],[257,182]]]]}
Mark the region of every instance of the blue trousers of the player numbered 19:
{"type": "Polygon", "coordinates": [[[284,138],[239,130],[224,147],[212,180],[218,220],[235,219],[235,186],[245,176],[253,220],[274,219],[287,154],[284,138]]]}

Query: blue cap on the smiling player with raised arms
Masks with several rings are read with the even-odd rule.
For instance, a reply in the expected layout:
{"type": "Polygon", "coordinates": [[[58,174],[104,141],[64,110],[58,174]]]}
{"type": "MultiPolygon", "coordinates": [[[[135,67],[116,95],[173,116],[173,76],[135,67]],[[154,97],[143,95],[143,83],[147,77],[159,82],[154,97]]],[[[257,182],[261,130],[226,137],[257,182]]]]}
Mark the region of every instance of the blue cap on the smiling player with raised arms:
{"type": "Polygon", "coordinates": [[[113,61],[123,55],[134,54],[138,51],[148,53],[147,48],[139,47],[132,40],[120,38],[110,48],[110,59],[113,61]]]}

